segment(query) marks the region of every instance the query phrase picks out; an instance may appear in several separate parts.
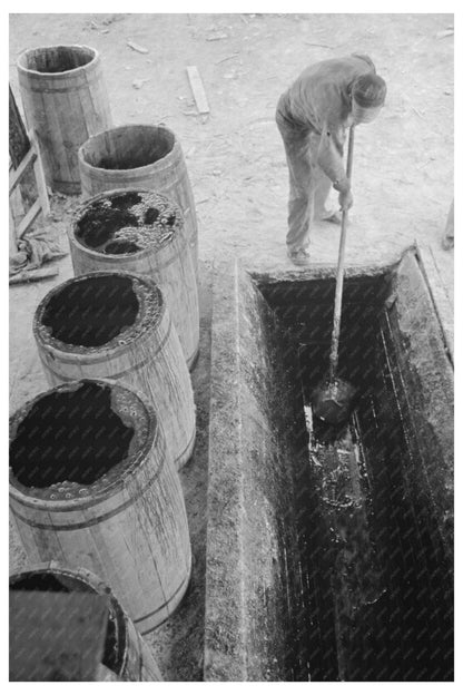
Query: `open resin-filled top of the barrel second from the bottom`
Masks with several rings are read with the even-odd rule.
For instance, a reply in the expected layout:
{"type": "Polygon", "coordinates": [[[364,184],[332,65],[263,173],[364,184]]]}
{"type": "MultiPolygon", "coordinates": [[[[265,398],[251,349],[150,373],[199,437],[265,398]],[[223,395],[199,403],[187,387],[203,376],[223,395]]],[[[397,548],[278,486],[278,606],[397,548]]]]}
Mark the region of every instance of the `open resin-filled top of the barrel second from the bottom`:
{"type": "Polygon", "coordinates": [[[132,389],[87,379],[56,386],[10,418],[10,489],[62,509],[106,498],[146,460],[157,430],[132,389]]]}

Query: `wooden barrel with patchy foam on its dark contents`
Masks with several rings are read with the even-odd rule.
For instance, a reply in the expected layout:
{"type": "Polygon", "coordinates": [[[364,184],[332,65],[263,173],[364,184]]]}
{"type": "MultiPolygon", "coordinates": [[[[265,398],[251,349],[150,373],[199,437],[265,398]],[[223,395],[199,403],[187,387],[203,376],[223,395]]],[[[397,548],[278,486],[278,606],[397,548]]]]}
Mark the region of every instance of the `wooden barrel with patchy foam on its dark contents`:
{"type": "Polygon", "coordinates": [[[138,189],[101,193],[76,213],[69,231],[73,272],[127,271],[162,291],[189,369],[199,351],[195,267],[179,208],[166,196],[138,189]]]}

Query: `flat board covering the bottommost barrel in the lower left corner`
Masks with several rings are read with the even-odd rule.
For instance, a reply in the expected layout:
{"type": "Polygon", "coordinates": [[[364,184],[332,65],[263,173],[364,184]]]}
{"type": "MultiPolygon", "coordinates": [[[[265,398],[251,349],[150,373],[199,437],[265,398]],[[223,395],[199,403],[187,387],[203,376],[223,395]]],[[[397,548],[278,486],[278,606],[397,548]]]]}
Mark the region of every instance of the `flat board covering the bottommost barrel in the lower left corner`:
{"type": "Polygon", "coordinates": [[[10,591],[10,681],[96,681],[108,597],[10,591]]]}

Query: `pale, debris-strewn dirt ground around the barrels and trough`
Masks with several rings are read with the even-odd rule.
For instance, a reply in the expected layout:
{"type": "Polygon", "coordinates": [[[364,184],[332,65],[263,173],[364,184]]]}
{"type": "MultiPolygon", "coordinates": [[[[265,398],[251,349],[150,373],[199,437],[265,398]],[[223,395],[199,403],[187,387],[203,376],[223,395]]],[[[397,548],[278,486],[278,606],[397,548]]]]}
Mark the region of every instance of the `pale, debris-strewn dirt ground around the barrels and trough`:
{"type": "MultiPolygon", "coordinates": [[[[441,248],[453,197],[452,14],[11,14],[10,84],[20,100],[21,50],[85,43],[101,52],[115,125],[165,123],[178,136],[199,225],[201,354],[193,373],[195,456],[183,473],[195,557],[176,616],[151,643],[166,679],[198,681],[203,668],[204,571],[210,368],[211,270],[239,256],[249,266],[289,267],[287,170],[274,114],[308,63],[367,53],[387,82],[386,106],[356,129],[354,207],[347,263],[390,262],[415,241],[431,247],[453,303],[453,251],[441,248]],[[141,53],[128,40],[147,49],[141,53]],[[210,114],[198,115],[187,66],[197,66],[210,114]]],[[[335,200],[335,198],[334,198],[335,200]]],[[[53,195],[50,226],[66,246],[78,197],[53,195]]],[[[337,258],[338,228],[314,229],[314,263],[337,258]]],[[[46,388],[31,332],[33,311],[55,281],[10,292],[10,408],[46,388]]],[[[11,569],[24,558],[12,537],[11,569]]]]}

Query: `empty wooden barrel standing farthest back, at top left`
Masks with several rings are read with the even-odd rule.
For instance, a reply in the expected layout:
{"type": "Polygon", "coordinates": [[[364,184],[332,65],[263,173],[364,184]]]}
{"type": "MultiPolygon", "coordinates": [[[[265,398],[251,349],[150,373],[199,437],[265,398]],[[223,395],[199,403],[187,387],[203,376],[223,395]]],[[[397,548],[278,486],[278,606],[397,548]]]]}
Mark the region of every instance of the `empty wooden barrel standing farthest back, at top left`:
{"type": "Polygon", "coordinates": [[[47,184],[80,193],[78,149],[112,125],[98,51],[88,46],[45,46],[23,51],[18,77],[28,127],[36,131],[47,184]]]}

